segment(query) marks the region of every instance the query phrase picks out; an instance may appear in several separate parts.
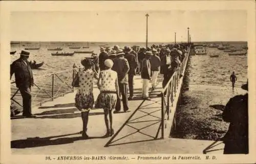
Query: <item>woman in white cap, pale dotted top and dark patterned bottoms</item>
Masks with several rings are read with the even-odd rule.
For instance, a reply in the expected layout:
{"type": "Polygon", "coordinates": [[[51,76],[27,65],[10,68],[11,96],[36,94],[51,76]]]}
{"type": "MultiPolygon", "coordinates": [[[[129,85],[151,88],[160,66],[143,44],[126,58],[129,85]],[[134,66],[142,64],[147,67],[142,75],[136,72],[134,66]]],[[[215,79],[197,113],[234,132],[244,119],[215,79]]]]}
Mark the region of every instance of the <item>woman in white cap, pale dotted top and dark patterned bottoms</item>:
{"type": "Polygon", "coordinates": [[[114,130],[112,128],[112,109],[115,109],[117,98],[120,97],[117,73],[111,69],[113,61],[111,59],[106,59],[104,61],[104,65],[106,69],[101,71],[99,74],[98,88],[100,90],[100,94],[97,98],[95,107],[103,108],[104,110],[104,120],[106,125],[105,137],[108,137],[114,134],[114,130]]]}

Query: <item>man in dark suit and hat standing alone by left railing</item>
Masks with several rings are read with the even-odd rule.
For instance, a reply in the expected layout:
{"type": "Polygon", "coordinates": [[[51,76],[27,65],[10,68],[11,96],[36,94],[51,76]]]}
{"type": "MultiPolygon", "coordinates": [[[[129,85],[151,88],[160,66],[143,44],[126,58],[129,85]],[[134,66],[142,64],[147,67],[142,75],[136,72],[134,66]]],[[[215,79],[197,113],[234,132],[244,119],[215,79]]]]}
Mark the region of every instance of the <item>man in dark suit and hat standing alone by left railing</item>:
{"type": "Polygon", "coordinates": [[[23,116],[32,117],[31,113],[31,86],[34,79],[31,67],[28,62],[29,52],[22,51],[20,58],[11,64],[11,77],[15,75],[16,87],[19,89],[23,98],[23,116]]]}

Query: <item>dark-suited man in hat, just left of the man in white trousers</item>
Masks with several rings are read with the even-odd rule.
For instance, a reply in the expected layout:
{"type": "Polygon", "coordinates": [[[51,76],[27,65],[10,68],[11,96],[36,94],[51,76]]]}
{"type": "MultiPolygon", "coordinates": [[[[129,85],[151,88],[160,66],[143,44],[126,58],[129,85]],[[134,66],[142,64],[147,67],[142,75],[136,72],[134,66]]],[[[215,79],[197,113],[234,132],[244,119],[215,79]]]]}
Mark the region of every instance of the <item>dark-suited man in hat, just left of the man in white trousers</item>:
{"type": "Polygon", "coordinates": [[[128,83],[129,83],[129,91],[130,96],[128,100],[133,100],[133,83],[134,83],[134,75],[136,74],[136,68],[138,66],[135,55],[131,54],[131,48],[129,46],[124,47],[124,58],[129,62],[130,70],[128,72],[128,83]]]}

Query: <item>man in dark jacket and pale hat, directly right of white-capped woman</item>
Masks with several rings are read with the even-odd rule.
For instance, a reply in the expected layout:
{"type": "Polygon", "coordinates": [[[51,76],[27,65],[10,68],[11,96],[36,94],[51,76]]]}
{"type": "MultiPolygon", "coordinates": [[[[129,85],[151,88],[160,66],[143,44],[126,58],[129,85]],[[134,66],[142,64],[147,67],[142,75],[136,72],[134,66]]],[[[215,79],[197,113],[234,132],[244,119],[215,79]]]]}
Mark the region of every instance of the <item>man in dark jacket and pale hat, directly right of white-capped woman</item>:
{"type": "MultiPolygon", "coordinates": [[[[116,58],[113,58],[113,67],[112,70],[117,72],[118,77],[118,86],[120,95],[122,95],[123,101],[123,111],[126,112],[129,110],[128,107],[128,99],[127,99],[127,84],[128,84],[128,72],[129,72],[129,63],[127,59],[125,59],[124,53],[121,49],[116,51],[116,58]]],[[[116,110],[114,113],[117,113],[121,110],[121,100],[117,99],[116,110]]]]}

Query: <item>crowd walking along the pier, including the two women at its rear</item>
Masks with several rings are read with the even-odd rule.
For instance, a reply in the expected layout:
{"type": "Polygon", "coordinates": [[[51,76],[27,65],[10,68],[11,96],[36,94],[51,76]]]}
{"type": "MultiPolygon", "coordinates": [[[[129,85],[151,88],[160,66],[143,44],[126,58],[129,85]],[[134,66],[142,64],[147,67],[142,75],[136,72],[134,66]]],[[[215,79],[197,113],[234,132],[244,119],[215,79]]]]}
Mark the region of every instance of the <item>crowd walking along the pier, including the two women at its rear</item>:
{"type": "MultiPolygon", "coordinates": [[[[188,52],[188,44],[177,45],[152,45],[151,48],[140,48],[139,46],[124,46],[120,48],[100,47],[100,53],[92,54],[92,58],[84,58],[81,64],[84,69],[75,76],[72,86],[78,87],[75,96],[75,106],[81,111],[83,122],[82,136],[88,138],[87,124],[90,109],[103,108],[106,126],[105,136],[112,136],[114,113],[129,111],[128,101],[134,99],[134,76],[140,75],[143,81],[141,98],[151,100],[148,94],[151,80],[152,90],[156,89],[157,77],[163,74],[162,87],[178,69],[180,63],[188,52]],[[100,94],[94,103],[93,84],[98,80],[100,94]],[[128,95],[129,89],[129,97],[128,95]],[[94,106],[95,104],[95,106],[94,106]]],[[[160,94],[161,95],[161,94],[160,94]]]]}

